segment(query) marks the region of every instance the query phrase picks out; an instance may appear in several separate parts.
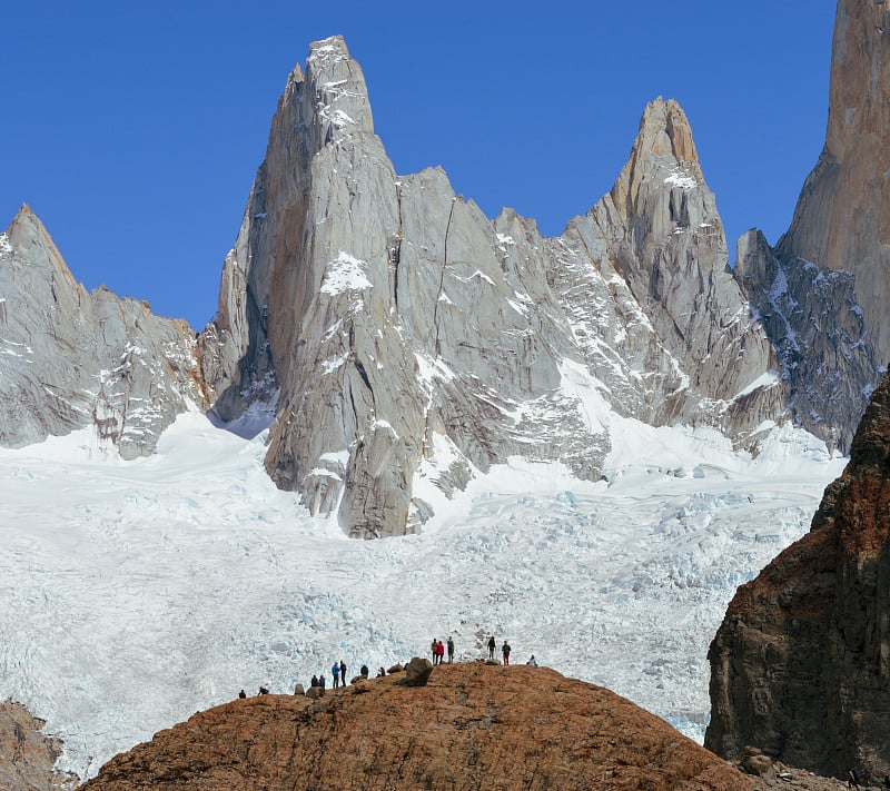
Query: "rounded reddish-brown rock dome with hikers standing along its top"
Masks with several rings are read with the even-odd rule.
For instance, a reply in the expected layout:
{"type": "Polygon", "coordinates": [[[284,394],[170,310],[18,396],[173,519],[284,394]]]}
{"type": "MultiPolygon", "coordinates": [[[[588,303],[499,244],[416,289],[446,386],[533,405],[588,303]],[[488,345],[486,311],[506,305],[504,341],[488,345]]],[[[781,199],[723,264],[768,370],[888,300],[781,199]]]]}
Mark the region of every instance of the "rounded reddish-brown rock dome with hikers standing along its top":
{"type": "Polygon", "coordinates": [[[425,686],[375,679],[319,701],[212,709],[107,763],[83,788],[751,789],[607,690],[545,669],[442,665],[425,686]]]}

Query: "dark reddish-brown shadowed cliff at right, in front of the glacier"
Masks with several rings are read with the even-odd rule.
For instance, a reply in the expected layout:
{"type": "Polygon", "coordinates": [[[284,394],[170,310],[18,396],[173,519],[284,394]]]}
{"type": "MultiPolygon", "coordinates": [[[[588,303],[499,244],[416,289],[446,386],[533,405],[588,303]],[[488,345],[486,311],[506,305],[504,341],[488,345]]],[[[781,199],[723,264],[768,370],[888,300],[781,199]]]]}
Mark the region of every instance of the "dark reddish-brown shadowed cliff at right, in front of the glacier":
{"type": "Polygon", "coordinates": [[[890,377],[811,531],[739,589],[709,652],[705,745],[890,771],[890,377]]]}

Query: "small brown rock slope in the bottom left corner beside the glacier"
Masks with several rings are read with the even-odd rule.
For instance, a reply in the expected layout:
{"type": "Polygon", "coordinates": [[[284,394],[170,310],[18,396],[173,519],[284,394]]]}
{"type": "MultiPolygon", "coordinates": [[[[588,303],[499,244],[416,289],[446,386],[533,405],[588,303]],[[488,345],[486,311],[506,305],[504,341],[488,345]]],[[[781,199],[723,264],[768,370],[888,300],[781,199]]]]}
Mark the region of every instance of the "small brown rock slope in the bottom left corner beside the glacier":
{"type": "Polygon", "coordinates": [[[23,705],[0,703],[0,788],[59,791],[77,787],[77,775],[56,771],[61,743],[41,733],[43,725],[23,705]]]}

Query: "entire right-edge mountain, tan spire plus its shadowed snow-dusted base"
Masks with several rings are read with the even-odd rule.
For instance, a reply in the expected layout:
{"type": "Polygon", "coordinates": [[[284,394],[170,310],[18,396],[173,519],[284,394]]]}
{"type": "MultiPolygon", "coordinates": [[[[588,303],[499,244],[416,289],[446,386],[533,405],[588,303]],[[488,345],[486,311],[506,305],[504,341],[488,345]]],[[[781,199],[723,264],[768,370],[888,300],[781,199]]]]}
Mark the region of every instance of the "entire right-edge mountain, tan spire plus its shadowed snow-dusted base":
{"type": "Polygon", "coordinates": [[[750,234],[736,264],[795,417],[844,452],[890,359],[888,30],[883,1],[838,1],[825,146],[775,249],[750,234]]]}

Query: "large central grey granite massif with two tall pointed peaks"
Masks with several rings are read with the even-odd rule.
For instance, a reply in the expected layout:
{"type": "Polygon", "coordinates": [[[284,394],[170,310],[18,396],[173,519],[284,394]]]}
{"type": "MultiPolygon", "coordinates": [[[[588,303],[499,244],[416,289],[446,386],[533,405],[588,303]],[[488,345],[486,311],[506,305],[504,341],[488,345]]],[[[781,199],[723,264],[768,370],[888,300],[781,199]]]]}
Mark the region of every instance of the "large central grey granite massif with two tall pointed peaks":
{"type": "Polygon", "coordinates": [[[439,169],[396,175],[339,37],[290,75],[199,346],[219,417],[276,405],[269,474],[356,537],[415,531],[418,479],[448,494],[511,456],[595,479],[611,439],[585,401],[749,445],[784,411],[675,102],[545,238],[439,169]]]}

